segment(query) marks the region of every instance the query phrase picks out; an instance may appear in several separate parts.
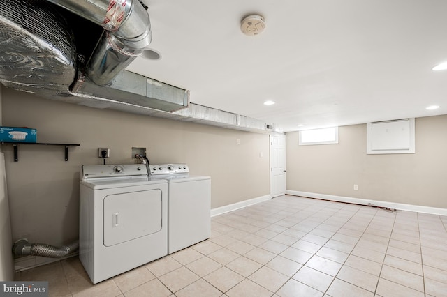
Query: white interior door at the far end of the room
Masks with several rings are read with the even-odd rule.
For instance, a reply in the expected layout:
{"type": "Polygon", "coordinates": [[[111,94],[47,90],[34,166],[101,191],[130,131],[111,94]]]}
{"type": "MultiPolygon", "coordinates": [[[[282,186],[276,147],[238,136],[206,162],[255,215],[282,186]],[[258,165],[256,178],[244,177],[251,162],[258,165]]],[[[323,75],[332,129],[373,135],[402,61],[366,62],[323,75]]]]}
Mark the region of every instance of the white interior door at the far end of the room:
{"type": "Polygon", "coordinates": [[[286,194],[286,135],[270,135],[270,192],[286,194]]]}

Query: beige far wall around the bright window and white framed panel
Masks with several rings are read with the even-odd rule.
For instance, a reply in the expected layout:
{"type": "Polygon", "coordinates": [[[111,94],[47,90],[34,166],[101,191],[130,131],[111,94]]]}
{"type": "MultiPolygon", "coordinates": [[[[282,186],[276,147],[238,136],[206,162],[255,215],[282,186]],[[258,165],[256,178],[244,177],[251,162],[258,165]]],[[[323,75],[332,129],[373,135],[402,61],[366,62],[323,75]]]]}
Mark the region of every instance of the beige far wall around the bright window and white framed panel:
{"type": "Polygon", "coordinates": [[[287,133],[287,189],[447,208],[447,116],[416,119],[416,153],[367,155],[366,125],[339,128],[339,144],[298,146],[287,133]],[[353,185],[358,190],[353,190],[353,185]]]}

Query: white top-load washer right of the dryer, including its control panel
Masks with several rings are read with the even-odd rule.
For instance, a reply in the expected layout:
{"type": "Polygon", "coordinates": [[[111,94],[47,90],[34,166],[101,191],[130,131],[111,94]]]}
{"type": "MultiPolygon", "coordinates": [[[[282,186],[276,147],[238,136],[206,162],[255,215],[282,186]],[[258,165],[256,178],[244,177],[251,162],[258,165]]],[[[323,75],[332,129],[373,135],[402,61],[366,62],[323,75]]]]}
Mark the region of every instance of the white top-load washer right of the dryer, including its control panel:
{"type": "Polygon", "coordinates": [[[151,176],[168,181],[168,254],[210,238],[210,176],[189,176],[186,164],[149,168],[151,176]]]}

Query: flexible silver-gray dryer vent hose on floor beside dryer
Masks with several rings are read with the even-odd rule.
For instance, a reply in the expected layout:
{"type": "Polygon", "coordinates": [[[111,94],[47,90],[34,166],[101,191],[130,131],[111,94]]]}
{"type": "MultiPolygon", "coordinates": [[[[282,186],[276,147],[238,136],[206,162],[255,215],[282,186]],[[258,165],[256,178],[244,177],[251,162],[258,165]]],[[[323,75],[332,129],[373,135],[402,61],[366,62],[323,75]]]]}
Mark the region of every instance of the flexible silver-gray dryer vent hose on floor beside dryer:
{"type": "Polygon", "coordinates": [[[13,246],[15,256],[40,256],[49,258],[61,258],[79,248],[79,242],[70,245],[55,247],[45,243],[29,243],[27,239],[16,241],[13,246]]]}

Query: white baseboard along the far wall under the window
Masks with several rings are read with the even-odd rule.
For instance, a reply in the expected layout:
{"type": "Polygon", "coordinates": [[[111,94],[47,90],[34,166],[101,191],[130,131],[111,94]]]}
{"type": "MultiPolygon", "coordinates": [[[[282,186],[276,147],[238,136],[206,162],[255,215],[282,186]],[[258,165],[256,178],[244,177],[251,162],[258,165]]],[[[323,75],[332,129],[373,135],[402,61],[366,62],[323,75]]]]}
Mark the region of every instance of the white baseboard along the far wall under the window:
{"type": "Polygon", "coordinates": [[[318,194],[318,193],[302,192],[302,191],[292,191],[292,190],[286,190],[286,194],[302,196],[302,197],[309,197],[309,198],[316,198],[316,199],[323,199],[323,200],[332,200],[332,201],[347,202],[347,203],[353,203],[353,204],[361,204],[361,205],[368,205],[369,203],[372,203],[375,206],[395,208],[395,209],[399,209],[401,211],[415,211],[418,213],[431,213],[433,215],[447,215],[447,208],[437,208],[437,207],[421,206],[421,205],[413,205],[413,204],[402,204],[402,203],[380,201],[380,200],[373,200],[373,199],[361,199],[361,198],[326,195],[326,194],[318,194]]]}

